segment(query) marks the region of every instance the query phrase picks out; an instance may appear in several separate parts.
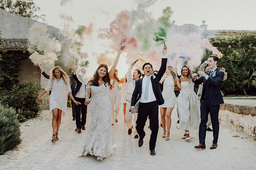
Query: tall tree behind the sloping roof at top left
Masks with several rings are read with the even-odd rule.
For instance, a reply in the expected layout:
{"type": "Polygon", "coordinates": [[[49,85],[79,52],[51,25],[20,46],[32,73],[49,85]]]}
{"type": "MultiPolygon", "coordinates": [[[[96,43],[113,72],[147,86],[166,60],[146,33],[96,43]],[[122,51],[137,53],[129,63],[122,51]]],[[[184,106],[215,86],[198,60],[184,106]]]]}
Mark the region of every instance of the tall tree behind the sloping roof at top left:
{"type": "Polygon", "coordinates": [[[40,11],[40,8],[36,6],[33,0],[0,0],[0,9],[8,12],[15,13],[22,17],[31,19],[42,19],[45,22],[45,15],[36,15],[36,11],[40,11]]]}

